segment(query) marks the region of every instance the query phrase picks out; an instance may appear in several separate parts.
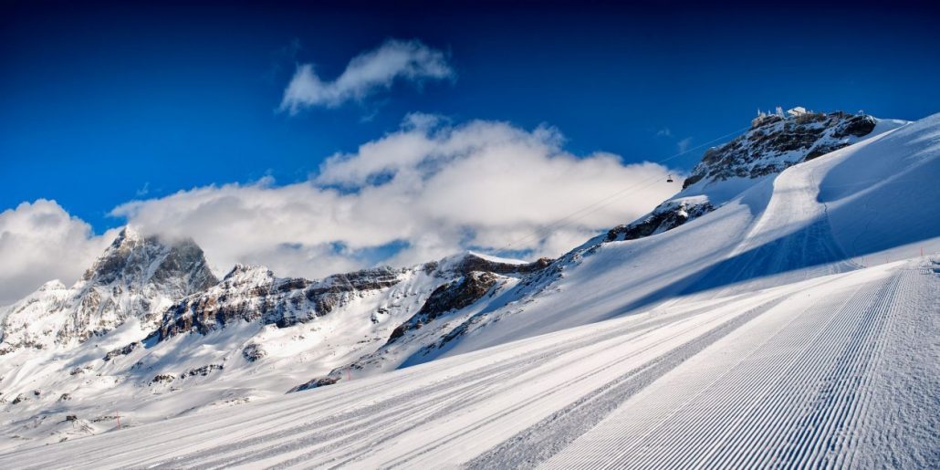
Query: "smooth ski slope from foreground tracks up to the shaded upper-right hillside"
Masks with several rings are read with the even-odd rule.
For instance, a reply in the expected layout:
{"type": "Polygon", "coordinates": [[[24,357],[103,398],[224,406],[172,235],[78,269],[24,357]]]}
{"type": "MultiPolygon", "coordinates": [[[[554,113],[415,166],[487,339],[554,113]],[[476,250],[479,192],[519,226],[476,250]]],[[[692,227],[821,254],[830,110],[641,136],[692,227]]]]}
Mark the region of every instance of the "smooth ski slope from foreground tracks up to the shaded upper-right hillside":
{"type": "Polygon", "coordinates": [[[0,467],[937,468],[938,157],[940,115],[604,243],[436,360],[0,467]]]}

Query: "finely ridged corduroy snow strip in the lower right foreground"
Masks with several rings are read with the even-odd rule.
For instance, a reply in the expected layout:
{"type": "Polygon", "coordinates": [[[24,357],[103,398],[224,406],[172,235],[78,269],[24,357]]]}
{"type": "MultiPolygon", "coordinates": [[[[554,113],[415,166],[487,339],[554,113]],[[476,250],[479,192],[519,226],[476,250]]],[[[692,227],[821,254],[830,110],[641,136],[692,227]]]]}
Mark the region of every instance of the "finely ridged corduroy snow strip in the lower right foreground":
{"type": "Polygon", "coordinates": [[[546,466],[848,465],[909,275],[761,319],[624,403],[546,466]]]}

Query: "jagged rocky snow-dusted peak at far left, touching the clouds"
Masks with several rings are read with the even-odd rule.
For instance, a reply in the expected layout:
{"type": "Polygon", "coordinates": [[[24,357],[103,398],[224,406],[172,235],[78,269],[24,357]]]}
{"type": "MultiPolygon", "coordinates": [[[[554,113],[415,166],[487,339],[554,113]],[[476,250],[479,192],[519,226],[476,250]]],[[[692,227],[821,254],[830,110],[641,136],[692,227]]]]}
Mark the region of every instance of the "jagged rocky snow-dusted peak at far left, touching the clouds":
{"type": "Polygon", "coordinates": [[[125,227],[71,289],[52,281],[8,307],[0,351],[82,342],[132,317],[155,326],[174,300],[216,282],[192,240],[164,242],[125,227]]]}

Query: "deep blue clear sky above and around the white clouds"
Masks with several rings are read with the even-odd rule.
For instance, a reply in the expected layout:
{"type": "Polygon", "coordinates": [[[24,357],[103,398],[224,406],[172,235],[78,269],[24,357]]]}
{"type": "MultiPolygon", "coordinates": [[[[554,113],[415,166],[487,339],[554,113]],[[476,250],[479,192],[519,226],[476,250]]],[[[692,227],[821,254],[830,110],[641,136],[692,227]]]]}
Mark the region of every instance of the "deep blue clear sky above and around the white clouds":
{"type": "MultiPolygon", "coordinates": [[[[940,111],[931,2],[2,9],[0,211],[52,198],[99,232],[120,225],[107,212],[138,194],[305,180],[325,157],[396,130],[410,112],[547,123],[575,153],[634,162],[746,126],[758,106],[907,119],[940,111]],[[276,112],[296,63],[333,79],[389,38],[447,51],[458,79],[276,112]],[[671,137],[657,135],[664,128],[671,137]]],[[[688,169],[700,155],[672,163],[688,169]]]]}

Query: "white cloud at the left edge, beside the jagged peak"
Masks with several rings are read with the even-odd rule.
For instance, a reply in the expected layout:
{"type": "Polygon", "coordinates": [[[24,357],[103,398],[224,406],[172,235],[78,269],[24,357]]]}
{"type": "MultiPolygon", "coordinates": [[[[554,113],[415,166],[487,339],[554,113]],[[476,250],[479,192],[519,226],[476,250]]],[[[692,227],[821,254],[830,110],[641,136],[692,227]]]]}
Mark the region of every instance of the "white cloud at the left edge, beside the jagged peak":
{"type": "Polygon", "coordinates": [[[95,236],[86,222],[45,199],[0,212],[0,305],[52,279],[71,285],[116,235],[95,236]]]}

